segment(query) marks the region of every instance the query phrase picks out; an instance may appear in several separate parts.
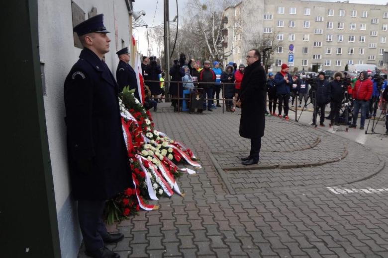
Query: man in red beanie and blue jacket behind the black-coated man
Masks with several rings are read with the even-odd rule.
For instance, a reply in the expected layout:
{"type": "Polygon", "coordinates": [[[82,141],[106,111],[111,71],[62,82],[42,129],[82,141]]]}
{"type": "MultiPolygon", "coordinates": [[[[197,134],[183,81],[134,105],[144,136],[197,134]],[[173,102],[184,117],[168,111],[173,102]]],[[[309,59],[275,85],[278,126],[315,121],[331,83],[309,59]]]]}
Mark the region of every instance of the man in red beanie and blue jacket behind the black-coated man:
{"type": "Polygon", "coordinates": [[[282,105],[284,104],[284,116],[286,120],[289,120],[289,100],[290,100],[290,88],[292,86],[292,77],[289,73],[289,66],[282,64],[282,70],[277,72],[274,78],[276,86],[276,95],[279,100],[279,117],[282,117],[282,105]]]}

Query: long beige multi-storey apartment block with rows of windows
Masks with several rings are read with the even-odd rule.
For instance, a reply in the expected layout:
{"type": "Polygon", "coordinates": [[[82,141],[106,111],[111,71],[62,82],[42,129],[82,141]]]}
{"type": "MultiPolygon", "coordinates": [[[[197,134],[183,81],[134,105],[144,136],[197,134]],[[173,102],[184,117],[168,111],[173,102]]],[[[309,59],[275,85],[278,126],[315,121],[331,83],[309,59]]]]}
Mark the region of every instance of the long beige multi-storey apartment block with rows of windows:
{"type": "Polygon", "coordinates": [[[388,4],[244,0],[225,9],[223,26],[224,62],[244,63],[252,37],[272,35],[273,71],[288,63],[290,53],[298,70],[343,70],[347,64],[383,68],[388,51],[388,4]]]}

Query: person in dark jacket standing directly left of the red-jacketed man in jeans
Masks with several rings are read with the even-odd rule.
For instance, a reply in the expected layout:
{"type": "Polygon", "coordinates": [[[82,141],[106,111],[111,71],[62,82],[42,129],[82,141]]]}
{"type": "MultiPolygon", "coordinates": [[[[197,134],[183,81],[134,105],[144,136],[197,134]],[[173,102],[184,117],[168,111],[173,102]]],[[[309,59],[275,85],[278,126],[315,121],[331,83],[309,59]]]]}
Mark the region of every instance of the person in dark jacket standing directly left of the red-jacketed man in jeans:
{"type": "Polygon", "coordinates": [[[334,80],[330,82],[330,117],[331,125],[339,126],[339,113],[344,99],[344,89],[342,85],[342,72],[334,73],[334,80]]]}

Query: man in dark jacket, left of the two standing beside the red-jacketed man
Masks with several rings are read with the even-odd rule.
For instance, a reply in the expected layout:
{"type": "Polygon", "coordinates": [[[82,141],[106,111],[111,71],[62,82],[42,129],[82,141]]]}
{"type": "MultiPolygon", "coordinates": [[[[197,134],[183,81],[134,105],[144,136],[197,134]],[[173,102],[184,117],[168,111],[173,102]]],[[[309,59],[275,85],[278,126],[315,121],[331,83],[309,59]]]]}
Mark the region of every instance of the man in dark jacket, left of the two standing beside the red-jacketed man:
{"type": "Polygon", "coordinates": [[[325,107],[327,104],[330,103],[330,96],[331,96],[331,87],[330,83],[325,80],[325,73],[323,71],[320,71],[318,73],[318,80],[317,80],[317,86],[315,91],[315,100],[313,99],[313,105],[314,105],[314,111],[312,116],[312,126],[316,125],[316,116],[319,113],[319,125],[321,127],[324,127],[325,124],[323,122],[325,121],[325,107]],[[315,103],[314,103],[315,101],[315,103]]]}

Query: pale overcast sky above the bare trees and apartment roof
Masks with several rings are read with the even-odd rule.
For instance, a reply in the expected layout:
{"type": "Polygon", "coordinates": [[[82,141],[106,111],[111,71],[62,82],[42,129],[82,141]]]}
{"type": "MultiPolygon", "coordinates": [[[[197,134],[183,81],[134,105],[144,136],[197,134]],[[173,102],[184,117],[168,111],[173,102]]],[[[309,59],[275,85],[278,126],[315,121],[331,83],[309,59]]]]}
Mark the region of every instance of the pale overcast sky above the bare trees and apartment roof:
{"type": "MultiPolygon", "coordinates": [[[[174,19],[175,15],[177,15],[176,1],[177,0],[169,0],[170,20],[174,19]]],[[[336,2],[337,0],[324,0],[324,1],[336,2]]],[[[186,8],[187,2],[188,0],[178,0],[179,16],[185,15],[185,12],[187,12],[187,8],[186,8]]],[[[238,1],[236,0],[236,2],[238,1]]],[[[374,4],[387,4],[388,0],[373,0],[373,1],[350,0],[350,3],[367,4],[371,2],[374,4]]],[[[164,0],[135,0],[135,2],[133,3],[133,9],[134,11],[144,10],[146,12],[146,15],[141,16],[141,19],[143,19],[143,21],[146,24],[148,24],[148,27],[151,27],[151,26],[155,26],[163,23],[163,4],[164,4],[164,0]],[[154,17],[154,14],[155,14],[155,17],[154,17]]],[[[147,38],[145,34],[146,29],[143,27],[138,27],[136,29],[138,30],[138,32],[134,30],[133,33],[136,39],[139,36],[139,52],[146,54],[147,53],[147,38]]]]}

